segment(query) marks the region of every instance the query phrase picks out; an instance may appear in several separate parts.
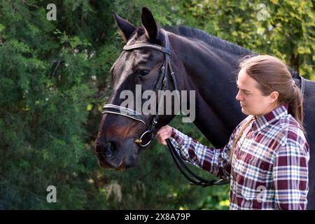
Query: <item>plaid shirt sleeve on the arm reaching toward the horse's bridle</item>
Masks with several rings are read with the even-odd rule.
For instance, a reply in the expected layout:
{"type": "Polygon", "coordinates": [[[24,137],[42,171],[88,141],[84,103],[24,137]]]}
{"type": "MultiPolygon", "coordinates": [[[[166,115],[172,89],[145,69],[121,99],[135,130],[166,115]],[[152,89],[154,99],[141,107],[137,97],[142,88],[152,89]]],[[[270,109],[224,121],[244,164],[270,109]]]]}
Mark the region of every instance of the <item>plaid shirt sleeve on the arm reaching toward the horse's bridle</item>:
{"type": "Polygon", "coordinates": [[[235,128],[228,144],[223,148],[209,148],[193,140],[186,134],[173,128],[172,137],[169,139],[183,160],[200,167],[221,179],[230,179],[230,148],[239,126],[235,128]]]}

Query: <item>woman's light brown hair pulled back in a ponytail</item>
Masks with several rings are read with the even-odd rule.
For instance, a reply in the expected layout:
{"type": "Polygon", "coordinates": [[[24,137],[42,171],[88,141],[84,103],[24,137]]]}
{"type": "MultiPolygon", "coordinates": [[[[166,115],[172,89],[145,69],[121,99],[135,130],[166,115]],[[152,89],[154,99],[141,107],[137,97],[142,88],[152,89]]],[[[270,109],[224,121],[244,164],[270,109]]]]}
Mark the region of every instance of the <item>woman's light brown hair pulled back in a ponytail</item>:
{"type": "MultiPolygon", "coordinates": [[[[300,129],[305,133],[303,128],[303,94],[288,71],[288,68],[280,59],[270,55],[258,55],[244,59],[239,64],[239,71],[245,69],[246,74],[258,83],[258,89],[262,95],[268,96],[272,92],[279,92],[277,103],[279,105],[288,104],[288,113],[290,113],[300,129]]],[[[241,130],[233,143],[230,152],[230,162],[232,162],[233,151],[237,141],[239,141],[246,126],[251,120],[242,125],[241,130]]]]}

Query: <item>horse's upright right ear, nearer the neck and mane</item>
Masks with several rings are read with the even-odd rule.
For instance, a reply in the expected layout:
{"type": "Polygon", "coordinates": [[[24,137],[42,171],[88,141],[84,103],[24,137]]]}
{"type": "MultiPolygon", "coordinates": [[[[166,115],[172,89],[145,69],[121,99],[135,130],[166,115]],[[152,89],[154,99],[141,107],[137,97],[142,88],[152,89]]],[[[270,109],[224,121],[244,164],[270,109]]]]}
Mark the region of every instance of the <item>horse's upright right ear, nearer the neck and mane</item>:
{"type": "Polygon", "coordinates": [[[151,11],[146,7],[142,8],[141,24],[146,31],[146,36],[150,40],[155,40],[158,38],[158,26],[156,25],[151,11]]]}

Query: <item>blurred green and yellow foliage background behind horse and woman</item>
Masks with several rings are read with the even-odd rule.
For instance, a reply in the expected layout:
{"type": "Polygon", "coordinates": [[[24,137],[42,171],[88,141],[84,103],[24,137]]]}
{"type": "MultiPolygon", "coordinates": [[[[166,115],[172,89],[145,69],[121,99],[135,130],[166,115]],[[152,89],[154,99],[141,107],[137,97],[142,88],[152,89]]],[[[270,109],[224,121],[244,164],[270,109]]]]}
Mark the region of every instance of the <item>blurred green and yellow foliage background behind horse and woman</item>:
{"type": "MultiPolygon", "coordinates": [[[[97,164],[94,139],[111,91],[109,70],[123,47],[111,11],[140,25],[147,6],[161,26],[202,29],[280,57],[315,80],[312,2],[1,0],[0,209],[228,209],[229,186],[190,186],[156,141],[135,168],[97,164]],[[48,3],[57,6],[55,21],[46,19],[48,3]],[[50,185],[57,203],[46,201],[50,185]]],[[[211,146],[181,117],[171,125],[211,146]]]]}

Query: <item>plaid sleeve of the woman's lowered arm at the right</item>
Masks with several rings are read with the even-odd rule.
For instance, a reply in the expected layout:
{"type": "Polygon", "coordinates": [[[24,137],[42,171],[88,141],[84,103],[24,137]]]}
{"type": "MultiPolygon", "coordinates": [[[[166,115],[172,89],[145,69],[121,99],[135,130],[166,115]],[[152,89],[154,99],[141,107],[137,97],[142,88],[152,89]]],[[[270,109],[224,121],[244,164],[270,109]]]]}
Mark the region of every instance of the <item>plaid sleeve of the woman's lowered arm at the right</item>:
{"type": "Polygon", "coordinates": [[[276,209],[307,209],[308,162],[307,141],[289,131],[286,144],[276,151],[272,170],[276,209]]]}

